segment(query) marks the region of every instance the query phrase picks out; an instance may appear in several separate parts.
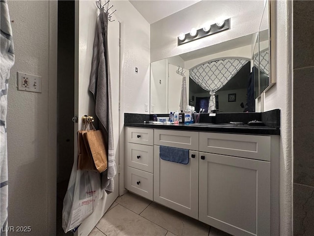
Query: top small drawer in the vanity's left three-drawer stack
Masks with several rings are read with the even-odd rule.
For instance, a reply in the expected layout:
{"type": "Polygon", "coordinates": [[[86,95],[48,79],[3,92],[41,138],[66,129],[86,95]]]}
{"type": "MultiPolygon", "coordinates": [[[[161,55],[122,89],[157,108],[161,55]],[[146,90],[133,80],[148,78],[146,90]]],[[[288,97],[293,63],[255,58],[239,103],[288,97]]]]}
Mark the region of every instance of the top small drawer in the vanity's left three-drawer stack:
{"type": "Polygon", "coordinates": [[[127,127],[127,141],[134,144],[153,146],[153,129],[127,127]]]}

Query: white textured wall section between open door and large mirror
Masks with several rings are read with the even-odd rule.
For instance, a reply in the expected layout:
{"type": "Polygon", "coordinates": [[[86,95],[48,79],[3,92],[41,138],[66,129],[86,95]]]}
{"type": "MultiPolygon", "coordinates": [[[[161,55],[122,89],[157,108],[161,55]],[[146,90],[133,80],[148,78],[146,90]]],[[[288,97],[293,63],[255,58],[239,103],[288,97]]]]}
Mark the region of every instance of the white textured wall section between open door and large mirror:
{"type": "Polygon", "coordinates": [[[121,23],[121,111],[149,114],[144,104],[150,104],[150,24],[130,1],[117,0],[113,5],[117,9],[114,16],[121,23]]]}

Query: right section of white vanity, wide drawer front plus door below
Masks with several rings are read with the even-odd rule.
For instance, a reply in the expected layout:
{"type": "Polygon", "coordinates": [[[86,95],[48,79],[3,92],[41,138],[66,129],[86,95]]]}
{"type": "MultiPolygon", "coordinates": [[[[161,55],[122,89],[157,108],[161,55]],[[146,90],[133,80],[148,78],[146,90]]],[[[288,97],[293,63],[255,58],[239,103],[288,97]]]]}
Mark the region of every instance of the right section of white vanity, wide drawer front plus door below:
{"type": "Polygon", "coordinates": [[[270,136],[200,132],[199,150],[199,220],[270,235],[270,136]]]}

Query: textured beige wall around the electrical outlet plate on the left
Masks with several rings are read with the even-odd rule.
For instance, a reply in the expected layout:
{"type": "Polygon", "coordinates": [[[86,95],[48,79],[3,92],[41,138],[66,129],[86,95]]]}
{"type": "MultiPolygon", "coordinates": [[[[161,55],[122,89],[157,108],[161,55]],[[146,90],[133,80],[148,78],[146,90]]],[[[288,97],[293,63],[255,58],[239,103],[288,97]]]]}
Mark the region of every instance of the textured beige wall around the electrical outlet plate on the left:
{"type": "MultiPolygon", "coordinates": [[[[55,81],[55,70],[50,64],[52,54],[56,54],[55,50],[50,52],[55,40],[50,38],[50,30],[53,30],[56,19],[50,24],[52,12],[49,1],[8,1],[8,5],[11,20],[14,21],[11,24],[15,52],[15,65],[9,79],[7,114],[8,225],[30,226],[28,235],[44,236],[53,234],[51,224],[55,222],[52,212],[55,203],[50,189],[55,180],[49,176],[55,175],[55,156],[50,145],[55,146],[49,132],[49,128],[55,125],[49,119],[49,112],[52,111],[49,103],[55,90],[49,86],[55,81]],[[17,71],[42,76],[42,93],[18,91],[17,71]]],[[[56,8],[54,16],[55,13],[56,8]]],[[[9,235],[17,234],[21,233],[9,235]]]]}

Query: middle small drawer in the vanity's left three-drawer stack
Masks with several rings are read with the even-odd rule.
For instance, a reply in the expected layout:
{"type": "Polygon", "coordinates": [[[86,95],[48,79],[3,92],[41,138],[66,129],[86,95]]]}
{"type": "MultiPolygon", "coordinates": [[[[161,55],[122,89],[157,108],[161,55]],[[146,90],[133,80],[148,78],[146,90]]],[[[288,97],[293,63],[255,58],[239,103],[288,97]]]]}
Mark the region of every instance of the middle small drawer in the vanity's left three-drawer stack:
{"type": "Polygon", "coordinates": [[[153,173],[153,149],[153,146],[128,143],[126,153],[128,166],[153,173]]]}

